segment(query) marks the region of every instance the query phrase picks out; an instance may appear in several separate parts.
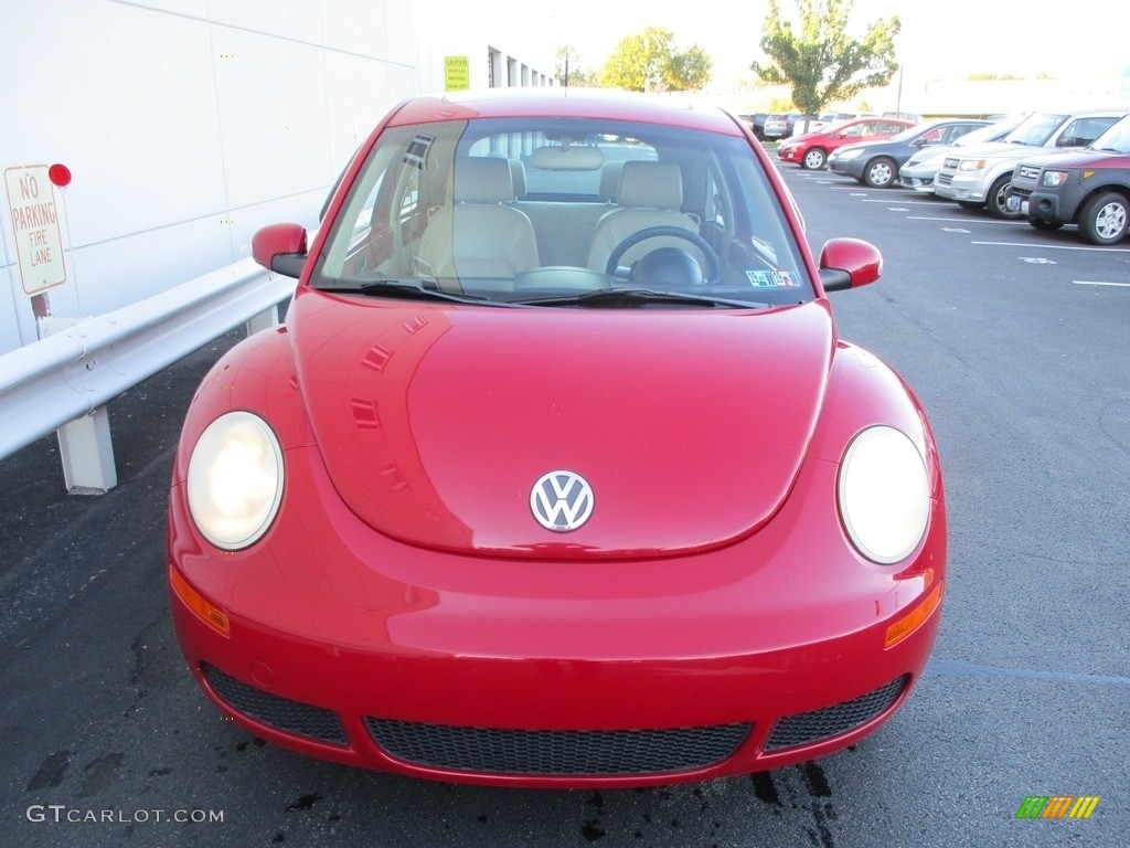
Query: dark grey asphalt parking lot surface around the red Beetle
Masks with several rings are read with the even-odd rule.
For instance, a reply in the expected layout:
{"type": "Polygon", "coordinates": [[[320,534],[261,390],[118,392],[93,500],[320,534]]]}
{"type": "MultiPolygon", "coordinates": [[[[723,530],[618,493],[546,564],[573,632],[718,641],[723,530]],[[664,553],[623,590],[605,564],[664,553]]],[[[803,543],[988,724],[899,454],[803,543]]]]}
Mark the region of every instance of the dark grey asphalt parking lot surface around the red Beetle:
{"type": "Polygon", "coordinates": [[[818,762],[666,789],[506,790],[346,769],[247,736],[180,657],[164,505],[225,337],[111,406],[120,485],[70,497],[52,439],[0,460],[0,843],[1114,846],[1130,832],[1130,242],[1038,233],[904,190],[782,172],[809,241],[876,243],[833,295],[938,438],[941,631],[906,707],[818,762]],[[1026,820],[1029,796],[1094,796],[1026,820]]]}

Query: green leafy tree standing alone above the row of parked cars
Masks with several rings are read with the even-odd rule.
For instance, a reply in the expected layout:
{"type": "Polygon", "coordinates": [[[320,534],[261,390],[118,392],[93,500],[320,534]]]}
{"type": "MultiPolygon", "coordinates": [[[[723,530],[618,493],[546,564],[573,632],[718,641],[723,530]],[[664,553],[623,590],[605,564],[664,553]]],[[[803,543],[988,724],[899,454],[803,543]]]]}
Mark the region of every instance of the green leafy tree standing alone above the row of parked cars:
{"type": "Polygon", "coordinates": [[[885,86],[898,70],[897,15],[871,24],[863,38],[855,40],[846,32],[853,0],[796,0],[797,35],[792,24],[782,20],[777,0],[768,2],[760,46],[770,61],[749,67],[766,83],[792,86],[792,102],[801,112],[815,114],[864,88],[885,86]]]}

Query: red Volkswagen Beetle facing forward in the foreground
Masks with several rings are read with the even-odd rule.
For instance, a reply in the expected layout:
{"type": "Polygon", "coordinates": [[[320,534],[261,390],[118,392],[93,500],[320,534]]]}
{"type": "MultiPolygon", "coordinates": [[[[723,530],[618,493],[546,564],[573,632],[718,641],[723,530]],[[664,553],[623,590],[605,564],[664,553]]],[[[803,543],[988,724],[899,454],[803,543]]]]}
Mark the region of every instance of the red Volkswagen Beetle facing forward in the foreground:
{"type": "Polygon", "coordinates": [[[840,339],[749,129],[577,89],[411,99],[356,153],[285,326],[192,400],[169,500],[207,696],[305,754],[638,786],[828,754],[922,674],[930,429],[840,339]]]}

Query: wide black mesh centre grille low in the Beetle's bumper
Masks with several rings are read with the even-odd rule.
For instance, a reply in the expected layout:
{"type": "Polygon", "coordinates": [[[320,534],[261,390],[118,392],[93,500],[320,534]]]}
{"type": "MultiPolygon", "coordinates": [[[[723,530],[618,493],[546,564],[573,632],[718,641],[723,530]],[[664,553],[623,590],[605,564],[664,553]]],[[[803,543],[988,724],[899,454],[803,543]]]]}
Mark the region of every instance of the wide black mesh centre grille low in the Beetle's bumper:
{"type": "Polygon", "coordinates": [[[750,725],[660,730],[504,730],[366,718],[373,741],[408,763],[493,775],[659,775],[737,751],[750,725]]]}

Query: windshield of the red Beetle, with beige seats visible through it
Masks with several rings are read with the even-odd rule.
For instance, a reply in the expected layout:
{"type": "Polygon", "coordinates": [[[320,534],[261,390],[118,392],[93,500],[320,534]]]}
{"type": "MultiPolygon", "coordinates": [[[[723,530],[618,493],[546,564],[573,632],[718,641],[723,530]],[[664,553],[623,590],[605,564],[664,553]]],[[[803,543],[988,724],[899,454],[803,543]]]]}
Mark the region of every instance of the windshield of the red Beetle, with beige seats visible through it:
{"type": "Polygon", "coordinates": [[[385,130],[311,283],[487,305],[631,291],[647,305],[764,306],[815,294],[744,137],[551,116],[385,130]]]}

